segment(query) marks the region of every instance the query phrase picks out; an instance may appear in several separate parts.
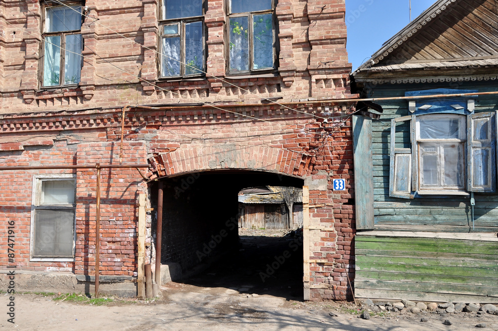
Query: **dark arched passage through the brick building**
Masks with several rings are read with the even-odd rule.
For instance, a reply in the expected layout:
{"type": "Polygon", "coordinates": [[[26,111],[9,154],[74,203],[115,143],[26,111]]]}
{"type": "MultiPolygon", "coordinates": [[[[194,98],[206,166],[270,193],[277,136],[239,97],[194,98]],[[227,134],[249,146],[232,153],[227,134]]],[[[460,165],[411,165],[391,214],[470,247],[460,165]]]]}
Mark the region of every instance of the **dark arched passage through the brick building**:
{"type": "Polygon", "coordinates": [[[260,185],[303,180],[234,170],[164,179],[162,262],[179,263],[188,284],[302,299],[302,235],[238,228],[239,191],[260,185]]]}

